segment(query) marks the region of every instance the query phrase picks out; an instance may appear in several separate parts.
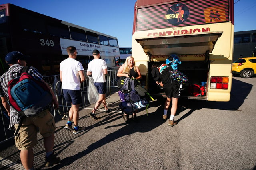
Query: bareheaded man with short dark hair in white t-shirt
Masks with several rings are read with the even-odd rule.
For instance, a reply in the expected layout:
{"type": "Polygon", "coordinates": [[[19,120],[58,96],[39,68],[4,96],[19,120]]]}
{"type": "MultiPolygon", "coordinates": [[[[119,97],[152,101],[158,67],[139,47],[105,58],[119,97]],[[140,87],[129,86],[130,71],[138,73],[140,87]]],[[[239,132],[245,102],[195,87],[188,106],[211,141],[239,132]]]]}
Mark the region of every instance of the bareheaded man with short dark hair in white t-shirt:
{"type": "Polygon", "coordinates": [[[67,47],[67,52],[68,58],[60,63],[60,80],[62,82],[64,98],[67,103],[71,103],[71,108],[68,111],[68,122],[65,128],[77,134],[85,129],[84,126],[78,126],[79,106],[82,103],[80,82],[84,82],[85,76],[82,64],[75,60],[77,55],[76,47],[67,47]],[[72,128],[72,119],[74,129],[72,128]]]}

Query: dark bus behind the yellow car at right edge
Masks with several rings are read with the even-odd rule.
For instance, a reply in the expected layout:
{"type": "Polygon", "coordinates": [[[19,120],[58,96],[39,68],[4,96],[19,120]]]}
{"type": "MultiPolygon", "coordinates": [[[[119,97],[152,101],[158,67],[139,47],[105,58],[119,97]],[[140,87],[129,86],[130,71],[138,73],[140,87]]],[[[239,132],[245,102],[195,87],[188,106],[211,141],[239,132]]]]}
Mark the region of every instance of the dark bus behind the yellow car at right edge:
{"type": "Polygon", "coordinates": [[[256,30],[235,32],[233,61],[252,56],[256,56],[256,30]]]}

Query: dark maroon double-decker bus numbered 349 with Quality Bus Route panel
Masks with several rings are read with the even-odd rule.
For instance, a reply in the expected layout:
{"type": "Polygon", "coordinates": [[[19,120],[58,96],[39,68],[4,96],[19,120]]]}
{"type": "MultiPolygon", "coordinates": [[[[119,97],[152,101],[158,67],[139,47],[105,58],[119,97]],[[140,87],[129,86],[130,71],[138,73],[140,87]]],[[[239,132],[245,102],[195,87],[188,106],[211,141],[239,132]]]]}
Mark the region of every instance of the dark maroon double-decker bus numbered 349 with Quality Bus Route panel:
{"type": "Polygon", "coordinates": [[[120,66],[118,39],[13,4],[0,5],[0,74],[8,69],[4,62],[10,51],[30,56],[27,65],[43,75],[59,74],[59,64],[68,57],[66,48],[77,49],[77,60],[84,69],[98,49],[108,68],[120,66]]]}

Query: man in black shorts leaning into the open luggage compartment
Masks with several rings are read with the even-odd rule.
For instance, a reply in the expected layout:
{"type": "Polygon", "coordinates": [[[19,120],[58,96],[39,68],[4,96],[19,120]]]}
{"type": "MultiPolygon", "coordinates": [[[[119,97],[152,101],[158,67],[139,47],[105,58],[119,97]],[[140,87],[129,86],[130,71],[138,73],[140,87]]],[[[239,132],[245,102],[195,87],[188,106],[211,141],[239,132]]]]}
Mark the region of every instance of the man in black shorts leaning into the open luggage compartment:
{"type": "MultiPolygon", "coordinates": [[[[175,58],[176,57],[178,56],[175,55],[175,58]]],[[[172,101],[171,117],[168,123],[169,126],[174,126],[177,124],[177,122],[174,121],[174,116],[177,111],[178,99],[180,97],[181,90],[181,85],[170,76],[170,71],[173,71],[172,66],[170,66],[172,62],[173,56],[171,55],[168,59],[166,59],[166,64],[162,64],[158,67],[160,74],[152,74],[153,78],[156,80],[156,83],[162,86],[167,96],[166,101],[164,103],[164,120],[167,119],[167,110],[170,106],[170,102],[172,101]]]]}

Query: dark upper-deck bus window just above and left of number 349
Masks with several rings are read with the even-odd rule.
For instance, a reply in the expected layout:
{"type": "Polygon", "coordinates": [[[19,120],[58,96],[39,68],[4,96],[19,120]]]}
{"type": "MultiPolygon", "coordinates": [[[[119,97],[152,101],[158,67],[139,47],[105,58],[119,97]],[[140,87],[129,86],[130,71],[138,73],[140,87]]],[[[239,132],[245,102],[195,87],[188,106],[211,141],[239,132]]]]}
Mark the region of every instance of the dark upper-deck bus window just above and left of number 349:
{"type": "Polygon", "coordinates": [[[23,31],[29,31],[32,33],[45,34],[46,29],[44,20],[38,16],[32,16],[24,13],[19,14],[19,21],[23,31]]]}

